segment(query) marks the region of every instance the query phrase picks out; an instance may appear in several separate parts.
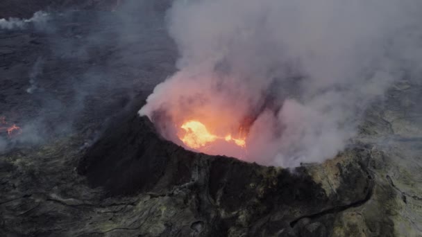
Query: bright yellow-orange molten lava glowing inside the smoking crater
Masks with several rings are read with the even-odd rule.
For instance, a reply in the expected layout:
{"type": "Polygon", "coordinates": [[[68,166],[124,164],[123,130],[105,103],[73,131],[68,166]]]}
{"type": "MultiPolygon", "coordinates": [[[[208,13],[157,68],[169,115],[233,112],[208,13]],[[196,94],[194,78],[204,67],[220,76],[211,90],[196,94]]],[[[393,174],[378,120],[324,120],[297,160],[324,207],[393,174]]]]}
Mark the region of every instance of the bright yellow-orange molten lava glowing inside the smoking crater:
{"type": "Polygon", "coordinates": [[[208,129],[199,121],[187,121],[183,123],[180,127],[185,130],[185,134],[180,136],[180,140],[185,143],[186,146],[193,149],[203,148],[208,146],[210,143],[221,140],[228,143],[233,142],[241,148],[246,148],[245,139],[235,139],[231,134],[226,135],[226,137],[219,137],[215,134],[212,134],[208,129]]]}

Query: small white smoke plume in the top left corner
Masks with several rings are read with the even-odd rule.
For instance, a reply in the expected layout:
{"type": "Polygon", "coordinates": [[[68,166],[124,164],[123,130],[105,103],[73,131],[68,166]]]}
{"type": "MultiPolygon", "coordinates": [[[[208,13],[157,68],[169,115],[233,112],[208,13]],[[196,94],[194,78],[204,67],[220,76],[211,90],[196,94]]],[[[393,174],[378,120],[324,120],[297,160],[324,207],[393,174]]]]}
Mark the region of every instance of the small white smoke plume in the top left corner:
{"type": "Polygon", "coordinates": [[[33,24],[38,30],[46,28],[47,21],[49,21],[49,14],[47,12],[35,12],[30,19],[19,19],[10,17],[9,19],[0,19],[0,29],[13,30],[24,29],[33,24]]]}

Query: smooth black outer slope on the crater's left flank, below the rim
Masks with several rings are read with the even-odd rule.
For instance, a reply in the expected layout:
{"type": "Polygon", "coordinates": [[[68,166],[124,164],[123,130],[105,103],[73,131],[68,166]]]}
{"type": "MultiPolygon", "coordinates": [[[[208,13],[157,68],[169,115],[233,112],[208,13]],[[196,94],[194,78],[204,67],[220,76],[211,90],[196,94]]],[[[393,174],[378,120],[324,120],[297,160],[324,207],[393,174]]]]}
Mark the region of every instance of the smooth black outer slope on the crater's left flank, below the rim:
{"type": "Polygon", "coordinates": [[[114,194],[151,191],[155,186],[170,188],[189,182],[194,154],[187,153],[160,138],[148,119],[130,110],[105,130],[78,170],[94,186],[105,186],[114,194]],[[174,155],[183,157],[183,162],[171,159],[174,155]]]}

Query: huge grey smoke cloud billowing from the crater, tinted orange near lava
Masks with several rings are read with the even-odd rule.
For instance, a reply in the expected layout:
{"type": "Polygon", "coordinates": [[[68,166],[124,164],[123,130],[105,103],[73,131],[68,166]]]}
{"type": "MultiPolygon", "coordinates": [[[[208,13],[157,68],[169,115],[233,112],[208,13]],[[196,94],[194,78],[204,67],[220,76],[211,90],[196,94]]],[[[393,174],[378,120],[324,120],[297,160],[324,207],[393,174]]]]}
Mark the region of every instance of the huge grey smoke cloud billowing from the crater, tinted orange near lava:
{"type": "Polygon", "coordinates": [[[179,144],[186,119],[246,124],[244,159],[260,164],[329,159],[370,103],[396,80],[420,78],[420,9],[419,0],[175,1],[178,72],[140,114],[179,144]]]}

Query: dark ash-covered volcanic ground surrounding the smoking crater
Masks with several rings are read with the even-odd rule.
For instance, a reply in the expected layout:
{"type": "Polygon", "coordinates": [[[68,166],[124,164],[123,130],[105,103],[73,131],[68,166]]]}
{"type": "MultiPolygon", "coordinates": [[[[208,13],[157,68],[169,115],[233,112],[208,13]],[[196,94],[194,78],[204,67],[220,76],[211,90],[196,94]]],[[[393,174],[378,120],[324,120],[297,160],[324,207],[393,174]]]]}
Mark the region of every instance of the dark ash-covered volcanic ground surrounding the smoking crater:
{"type": "Polygon", "coordinates": [[[170,3],[116,3],[1,10],[50,9],[0,28],[0,116],[22,128],[0,134],[1,236],[422,236],[421,80],[394,83],[323,164],[190,152],[137,114],[176,71],[170,3]]]}

